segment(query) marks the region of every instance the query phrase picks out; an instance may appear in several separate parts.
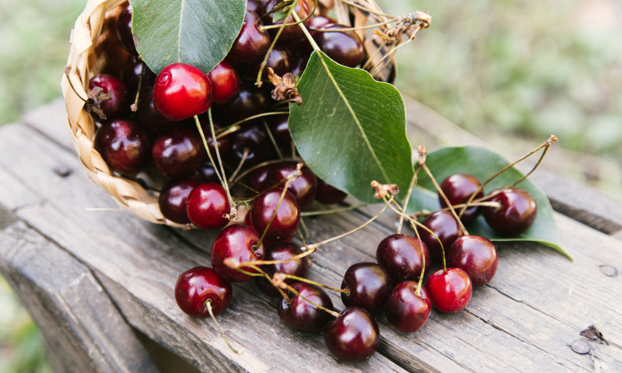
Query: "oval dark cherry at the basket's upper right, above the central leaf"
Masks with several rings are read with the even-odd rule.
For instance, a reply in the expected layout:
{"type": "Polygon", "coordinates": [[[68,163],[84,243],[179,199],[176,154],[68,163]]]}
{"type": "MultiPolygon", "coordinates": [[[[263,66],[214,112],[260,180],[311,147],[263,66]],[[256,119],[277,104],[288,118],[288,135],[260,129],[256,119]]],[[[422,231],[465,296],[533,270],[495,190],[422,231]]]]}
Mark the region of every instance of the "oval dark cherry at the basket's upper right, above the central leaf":
{"type": "MultiPolygon", "coordinates": [[[[333,24],[319,27],[324,30],[345,29],[348,26],[333,24]]],[[[332,60],[347,67],[357,67],[365,55],[363,42],[354,31],[317,32],[313,37],[322,52],[332,60]]]]}

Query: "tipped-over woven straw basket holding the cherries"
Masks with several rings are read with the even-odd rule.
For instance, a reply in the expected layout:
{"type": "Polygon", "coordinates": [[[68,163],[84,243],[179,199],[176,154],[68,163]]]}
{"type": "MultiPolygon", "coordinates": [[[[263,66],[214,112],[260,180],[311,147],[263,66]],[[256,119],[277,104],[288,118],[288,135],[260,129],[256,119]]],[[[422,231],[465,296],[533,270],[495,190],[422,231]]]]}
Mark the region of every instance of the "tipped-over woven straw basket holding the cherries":
{"type": "MultiPolygon", "coordinates": [[[[114,175],[93,147],[96,126],[91,114],[85,111],[83,98],[86,97],[86,87],[91,76],[100,72],[101,62],[106,58],[104,48],[106,40],[108,37],[116,37],[109,25],[121,11],[121,4],[124,2],[125,0],[88,0],[84,11],[73,27],[67,67],[65,67],[65,74],[61,81],[73,147],[91,181],[100,185],[121,208],[126,208],[139,218],[151,223],[183,228],[182,224],[164,218],[158,206],[157,196],[147,192],[137,182],[114,175]]],[[[373,0],[357,0],[356,2],[368,9],[380,10],[373,0]]],[[[373,17],[374,22],[384,21],[382,17],[373,14],[366,16],[361,11],[350,8],[337,0],[334,2],[333,0],[319,0],[318,5],[318,12],[326,12],[327,9],[334,7],[337,21],[345,25],[367,24],[368,16],[373,17]]],[[[364,37],[364,34],[364,32],[359,32],[361,37],[364,37]]],[[[373,43],[369,43],[371,41],[373,40],[366,40],[366,48],[374,47],[373,43]]],[[[395,76],[395,66],[393,62],[388,70],[391,71],[389,75],[392,77],[395,76]]],[[[386,80],[392,77],[387,76],[386,80]]]]}

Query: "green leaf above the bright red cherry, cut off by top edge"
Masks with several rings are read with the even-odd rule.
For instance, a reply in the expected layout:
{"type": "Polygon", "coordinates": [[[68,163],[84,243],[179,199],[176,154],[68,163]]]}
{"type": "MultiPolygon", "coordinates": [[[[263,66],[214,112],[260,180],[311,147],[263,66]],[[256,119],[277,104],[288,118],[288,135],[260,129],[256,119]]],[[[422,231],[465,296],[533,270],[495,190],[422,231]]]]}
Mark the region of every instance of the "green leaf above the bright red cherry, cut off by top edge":
{"type": "Polygon", "coordinates": [[[130,0],[132,32],[155,73],[183,62],[208,73],[229,52],[244,21],[246,0],[130,0]]]}

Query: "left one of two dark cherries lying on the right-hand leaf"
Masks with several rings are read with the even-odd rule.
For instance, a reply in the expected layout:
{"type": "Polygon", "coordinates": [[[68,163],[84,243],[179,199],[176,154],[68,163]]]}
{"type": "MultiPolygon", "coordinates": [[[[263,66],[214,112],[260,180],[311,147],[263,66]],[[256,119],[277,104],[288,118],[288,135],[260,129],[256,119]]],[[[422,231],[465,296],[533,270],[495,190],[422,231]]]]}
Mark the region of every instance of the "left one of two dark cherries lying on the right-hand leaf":
{"type": "MultiPolygon", "coordinates": [[[[469,200],[471,195],[475,193],[478,188],[480,188],[480,180],[477,180],[473,175],[467,175],[466,173],[454,173],[450,177],[447,177],[440,184],[440,188],[447,196],[447,199],[452,205],[460,205],[461,203],[466,203],[469,200]]],[[[484,196],[484,192],[480,191],[477,193],[474,200],[477,198],[481,198],[484,196]]],[[[439,195],[440,206],[443,208],[447,207],[447,203],[443,200],[443,197],[439,195]]],[[[462,208],[456,210],[457,213],[460,213],[462,208]]],[[[470,206],[465,210],[462,214],[462,220],[464,223],[468,221],[472,221],[480,214],[481,210],[479,206],[470,206]]]]}

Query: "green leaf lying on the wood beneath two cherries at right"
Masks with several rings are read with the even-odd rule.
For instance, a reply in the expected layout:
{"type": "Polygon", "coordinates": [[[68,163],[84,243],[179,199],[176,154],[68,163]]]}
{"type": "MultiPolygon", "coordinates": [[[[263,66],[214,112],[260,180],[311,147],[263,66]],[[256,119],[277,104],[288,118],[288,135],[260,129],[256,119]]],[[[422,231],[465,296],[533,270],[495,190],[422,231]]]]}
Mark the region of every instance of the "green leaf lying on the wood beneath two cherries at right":
{"type": "MultiPolygon", "coordinates": [[[[430,168],[432,175],[437,182],[441,183],[445,178],[453,173],[468,173],[475,176],[480,182],[485,182],[494,173],[509,165],[510,162],[495,152],[481,147],[443,147],[427,155],[425,162],[430,168]]],[[[516,168],[509,168],[504,173],[485,186],[485,192],[490,192],[496,188],[508,186],[522,177],[522,173],[516,168]]],[[[412,193],[411,200],[407,208],[408,213],[420,210],[435,211],[440,209],[439,198],[424,171],[419,172],[417,190],[412,193]],[[422,189],[424,188],[424,189],[422,189]]],[[[517,237],[505,237],[494,232],[486,224],[483,216],[466,226],[470,234],[484,236],[491,241],[534,241],[552,247],[565,256],[572,258],[562,249],[559,229],[553,216],[553,208],[550,206],[549,198],[544,191],[531,182],[528,178],[519,183],[517,188],[529,191],[536,200],[538,212],[536,220],[531,228],[517,237]]]]}

